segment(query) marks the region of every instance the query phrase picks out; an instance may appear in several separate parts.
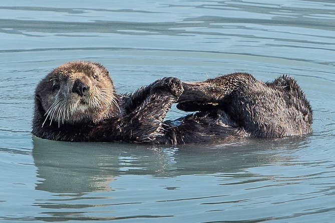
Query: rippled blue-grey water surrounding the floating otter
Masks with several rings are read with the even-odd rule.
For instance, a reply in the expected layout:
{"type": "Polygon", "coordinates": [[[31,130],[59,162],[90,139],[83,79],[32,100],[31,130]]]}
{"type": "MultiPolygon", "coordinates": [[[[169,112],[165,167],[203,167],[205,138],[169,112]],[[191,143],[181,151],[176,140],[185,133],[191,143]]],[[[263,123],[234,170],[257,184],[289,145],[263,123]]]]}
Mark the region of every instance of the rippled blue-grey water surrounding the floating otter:
{"type": "Polygon", "coordinates": [[[0,221],[335,222],[334,36],[333,0],[0,1],[0,221]],[[120,93],[164,76],[285,73],[311,102],[313,133],[178,146],[37,138],[35,86],[70,60],[101,62],[120,93]]]}

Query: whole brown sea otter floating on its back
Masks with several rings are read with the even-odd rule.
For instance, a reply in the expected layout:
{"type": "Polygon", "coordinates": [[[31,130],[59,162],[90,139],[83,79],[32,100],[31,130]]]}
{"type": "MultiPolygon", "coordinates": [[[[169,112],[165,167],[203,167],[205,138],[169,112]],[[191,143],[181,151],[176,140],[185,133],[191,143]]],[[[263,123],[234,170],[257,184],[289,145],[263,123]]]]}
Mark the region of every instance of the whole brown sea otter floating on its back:
{"type": "Polygon", "coordinates": [[[290,77],[270,83],[247,73],[197,83],[165,77],[122,95],[104,66],[76,61],[54,69],[37,86],[33,133],[64,141],[184,144],[301,136],[311,132],[311,122],[309,102],[290,77]],[[163,121],[174,102],[198,112],[163,121]]]}

